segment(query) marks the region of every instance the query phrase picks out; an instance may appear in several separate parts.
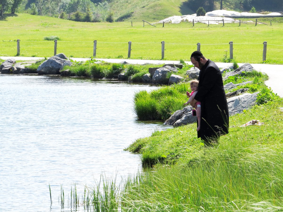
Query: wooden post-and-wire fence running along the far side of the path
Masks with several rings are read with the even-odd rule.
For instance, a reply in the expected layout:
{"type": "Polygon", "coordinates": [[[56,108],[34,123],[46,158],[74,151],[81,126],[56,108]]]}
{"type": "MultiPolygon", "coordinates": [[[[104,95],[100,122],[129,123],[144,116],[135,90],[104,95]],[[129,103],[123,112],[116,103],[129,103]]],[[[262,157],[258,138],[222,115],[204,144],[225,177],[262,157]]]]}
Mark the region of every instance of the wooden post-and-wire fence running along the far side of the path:
{"type": "MultiPolygon", "coordinates": [[[[44,41],[20,41],[20,39],[18,40],[14,40],[17,42],[17,55],[20,55],[20,42],[44,42],[44,41]]],[[[12,42],[11,40],[9,41],[4,41],[3,42],[12,42]]],[[[46,41],[45,41],[46,42],[46,41]]],[[[58,40],[54,40],[54,55],[57,54],[57,44],[59,42],[72,42],[72,41],[58,41],[58,40]]],[[[73,41],[73,42],[80,42],[80,41],[73,41]]],[[[83,42],[83,43],[91,43],[91,42],[83,42]]],[[[96,57],[96,53],[97,53],[97,40],[93,41],[93,57],[96,57]]],[[[110,44],[127,44],[126,42],[100,42],[100,43],[110,43],[110,44]]],[[[128,58],[131,57],[131,47],[132,47],[132,42],[129,41],[128,42],[128,58]]],[[[158,43],[134,43],[134,44],[158,44],[158,43]]],[[[165,52],[165,44],[172,44],[172,45],[197,45],[196,50],[200,51],[201,49],[201,44],[197,43],[197,44],[180,44],[180,43],[165,43],[165,41],[161,42],[161,59],[164,59],[164,52],[165,52]]],[[[239,43],[233,43],[233,41],[230,41],[229,43],[229,49],[230,49],[230,59],[233,59],[233,45],[235,44],[239,44],[239,43]]],[[[263,43],[253,43],[253,44],[263,44],[263,53],[262,53],[262,60],[265,61],[266,60],[266,53],[267,53],[267,41],[264,41],[263,43]]],[[[202,44],[202,45],[227,45],[227,43],[222,43],[222,44],[202,44]]],[[[252,45],[250,44],[241,44],[241,45],[252,45]]],[[[277,44],[269,44],[269,45],[273,45],[273,46],[283,46],[283,45],[277,45],[277,44]]],[[[92,49],[91,45],[89,45],[90,47],[88,49],[92,49]]],[[[50,47],[48,47],[50,48],[50,47]]],[[[72,47],[73,48],[73,47],[72,47]]],[[[84,48],[85,49],[85,48],[84,48]]],[[[125,49],[126,51],[126,49],[125,49]]]]}

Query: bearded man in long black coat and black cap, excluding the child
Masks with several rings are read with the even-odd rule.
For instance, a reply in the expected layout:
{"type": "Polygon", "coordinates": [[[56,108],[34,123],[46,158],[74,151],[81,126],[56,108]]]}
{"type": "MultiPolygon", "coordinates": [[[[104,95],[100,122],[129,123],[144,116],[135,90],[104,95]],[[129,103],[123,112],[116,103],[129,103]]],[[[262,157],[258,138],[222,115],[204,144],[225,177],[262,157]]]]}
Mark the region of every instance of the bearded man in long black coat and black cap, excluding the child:
{"type": "Polygon", "coordinates": [[[229,114],[223,80],[216,64],[206,59],[200,51],[191,55],[192,64],[200,69],[198,93],[190,103],[192,107],[201,102],[200,130],[198,138],[211,146],[217,143],[221,135],[228,133],[229,114]]]}

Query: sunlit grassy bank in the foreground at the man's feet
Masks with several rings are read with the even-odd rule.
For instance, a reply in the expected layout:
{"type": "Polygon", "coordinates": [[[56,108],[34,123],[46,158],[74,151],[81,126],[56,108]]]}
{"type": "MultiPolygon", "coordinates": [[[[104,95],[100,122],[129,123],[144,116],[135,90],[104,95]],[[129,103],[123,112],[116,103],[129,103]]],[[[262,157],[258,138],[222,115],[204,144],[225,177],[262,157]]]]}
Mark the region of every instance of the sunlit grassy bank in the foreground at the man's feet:
{"type": "Polygon", "coordinates": [[[81,204],[100,211],[281,211],[282,107],[278,99],[230,117],[229,134],[214,148],[196,138],[195,124],[155,132],[152,146],[164,155],[185,150],[175,165],[144,170],[123,187],[105,180],[103,191],[90,189],[81,204]],[[242,127],[252,119],[264,124],[242,127]]]}

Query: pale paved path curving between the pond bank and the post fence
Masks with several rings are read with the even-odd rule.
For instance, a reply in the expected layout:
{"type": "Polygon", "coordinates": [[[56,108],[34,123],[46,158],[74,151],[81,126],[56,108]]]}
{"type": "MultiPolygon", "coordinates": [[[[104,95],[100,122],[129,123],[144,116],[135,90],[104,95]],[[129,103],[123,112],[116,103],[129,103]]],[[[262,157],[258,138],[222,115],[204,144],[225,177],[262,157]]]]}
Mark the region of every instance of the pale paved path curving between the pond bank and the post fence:
{"type": "MultiPolygon", "coordinates": [[[[0,59],[7,60],[9,58],[14,58],[15,60],[41,60],[43,57],[0,57],[0,59]]],[[[76,61],[86,61],[90,60],[89,58],[71,58],[76,61]]],[[[180,61],[177,60],[134,60],[134,59],[96,59],[103,60],[106,62],[115,62],[119,63],[126,61],[131,64],[164,64],[164,63],[174,63],[177,64],[180,61]]],[[[190,61],[185,61],[187,64],[192,64],[190,61]]],[[[219,68],[225,68],[230,66],[232,63],[223,63],[216,62],[216,65],[219,68]]],[[[239,66],[244,63],[238,63],[239,66]]],[[[277,93],[278,96],[283,97],[283,65],[270,65],[270,64],[251,64],[257,71],[266,73],[269,76],[269,79],[265,81],[265,85],[271,87],[274,93],[277,93]]]]}

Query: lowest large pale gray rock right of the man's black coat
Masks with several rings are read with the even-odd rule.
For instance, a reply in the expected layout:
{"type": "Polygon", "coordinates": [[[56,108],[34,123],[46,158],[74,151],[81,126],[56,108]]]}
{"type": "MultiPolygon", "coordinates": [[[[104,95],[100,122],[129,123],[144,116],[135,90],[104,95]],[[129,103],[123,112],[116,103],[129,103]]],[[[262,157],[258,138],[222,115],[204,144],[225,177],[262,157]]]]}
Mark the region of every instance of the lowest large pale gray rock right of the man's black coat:
{"type": "Polygon", "coordinates": [[[242,113],[243,110],[250,109],[256,103],[256,97],[259,92],[249,94],[245,93],[239,96],[234,96],[227,99],[229,116],[233,116],[237,113],[242,113]]]}

